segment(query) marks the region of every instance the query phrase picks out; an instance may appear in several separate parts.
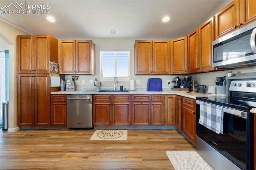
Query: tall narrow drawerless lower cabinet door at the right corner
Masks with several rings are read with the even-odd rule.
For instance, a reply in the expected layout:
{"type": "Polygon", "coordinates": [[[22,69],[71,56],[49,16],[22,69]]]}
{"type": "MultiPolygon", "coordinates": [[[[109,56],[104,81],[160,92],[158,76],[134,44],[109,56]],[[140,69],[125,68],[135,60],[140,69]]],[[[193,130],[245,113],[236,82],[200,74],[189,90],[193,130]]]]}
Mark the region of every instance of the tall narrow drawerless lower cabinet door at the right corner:
{"type": "Polygon", "coordinates": [[[164,96],[164,125],[175,125],[175,95],[164,96]]]}

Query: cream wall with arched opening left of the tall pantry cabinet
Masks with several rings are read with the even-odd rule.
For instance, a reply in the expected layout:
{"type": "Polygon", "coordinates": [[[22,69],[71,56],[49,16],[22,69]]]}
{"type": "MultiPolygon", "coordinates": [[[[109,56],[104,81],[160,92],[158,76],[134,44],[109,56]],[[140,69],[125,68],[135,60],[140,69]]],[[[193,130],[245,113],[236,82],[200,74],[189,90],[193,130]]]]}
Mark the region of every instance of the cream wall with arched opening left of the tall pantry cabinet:
{"type": "Polygon", "coordinates": [[[17,124],[17,57],[16,36],[28,35],[14,26],[0,20],[1,39],[0,45],[9,48],[9,115],[8,132],[19,130],[17,124]],[[4,41],[4,42],[3,42],[4,41]],[[7,44],[8,45],[7,45],[7,44]]]}

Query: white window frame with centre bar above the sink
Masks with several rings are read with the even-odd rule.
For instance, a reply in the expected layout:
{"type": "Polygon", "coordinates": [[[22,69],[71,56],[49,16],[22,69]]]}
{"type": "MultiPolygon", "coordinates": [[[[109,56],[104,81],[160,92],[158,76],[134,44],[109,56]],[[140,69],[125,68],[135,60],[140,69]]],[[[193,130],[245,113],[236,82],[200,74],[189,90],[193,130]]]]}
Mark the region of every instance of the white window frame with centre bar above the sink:
{"type": "MultiPolygon", "coordinates": [[[[116,74],[116,59],[115,59],[115,74],[116,74]]],[[[100,49],[100,79],[103,81],[113,81],[114,77],[117,77],[118,80],[120,81],[130,81],[131,77],[130,77],[130,49],[100,49]],[[120,76],[112,76],[112,77],[102,77],[101,76],[101,70],[102,70],[102,52],[105,51],[110,51],[110,52],[121,52],[121,51],[125,51],[128,52],[128,76],[127,77],[120,77],[120,76]]]]}

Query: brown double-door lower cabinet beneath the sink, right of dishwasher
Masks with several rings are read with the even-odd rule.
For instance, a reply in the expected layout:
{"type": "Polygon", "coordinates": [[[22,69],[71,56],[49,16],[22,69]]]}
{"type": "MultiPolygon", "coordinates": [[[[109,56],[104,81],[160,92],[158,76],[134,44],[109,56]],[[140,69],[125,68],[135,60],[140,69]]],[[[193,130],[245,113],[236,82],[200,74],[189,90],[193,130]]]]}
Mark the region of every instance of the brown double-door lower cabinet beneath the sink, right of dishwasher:
{"type": "Polygon", "coordinates": [[[131,125],[131,95],[93,95],[93,125],[131,125]]]}

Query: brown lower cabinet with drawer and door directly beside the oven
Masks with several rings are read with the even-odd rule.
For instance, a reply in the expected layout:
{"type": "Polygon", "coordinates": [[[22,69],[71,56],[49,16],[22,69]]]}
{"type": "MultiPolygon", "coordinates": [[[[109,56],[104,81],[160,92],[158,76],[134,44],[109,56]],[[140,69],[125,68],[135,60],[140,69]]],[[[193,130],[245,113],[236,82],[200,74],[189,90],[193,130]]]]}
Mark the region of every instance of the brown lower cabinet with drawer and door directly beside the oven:
{"type": "Polygon", "coordinates": [[[182,132],[196,143],[196,100],[182,97],[182,132]]]}

